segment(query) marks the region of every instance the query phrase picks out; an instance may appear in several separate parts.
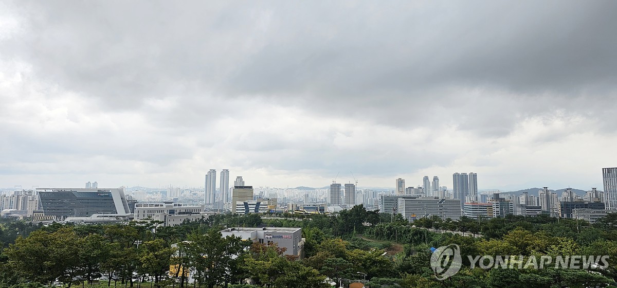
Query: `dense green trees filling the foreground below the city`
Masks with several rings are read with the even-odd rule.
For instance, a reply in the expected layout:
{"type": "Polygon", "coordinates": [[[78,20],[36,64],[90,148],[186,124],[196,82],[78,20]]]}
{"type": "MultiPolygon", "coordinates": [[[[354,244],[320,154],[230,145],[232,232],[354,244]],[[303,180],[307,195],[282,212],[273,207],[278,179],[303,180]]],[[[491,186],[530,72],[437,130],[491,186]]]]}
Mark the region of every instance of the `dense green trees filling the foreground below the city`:
{"type": "Polygon", "coordinates": [[[366,279],[368,287],[613,287],[617,216],[596,224],[548,216],[423,218],[366,211],[336,215],[215,215],[174,227],[157,223],[33,225],[2,220],[0,288],[329,287],[366,279]],[[231,226],[302,227],[303,260],[278,247],[223,238],[231,226]],[[431,228],[429,231],[426,228],[431,228]],[[433,232],[436,229],[438,232],[433,232]],[[459,231],[463,233],[439,232],[459,231]],[[476,236],[476,237],[474,237],[476,236]],[[463,269],[437,281],[430,247],[458,244],[463,255],[608,255],[607,269],[463,269]],[[170,269],[171,268],[171,269],[170,269]],[[194,271],[189,282],[185,271],[194,271]],[[249,284],[250,283],[250,284],[249,284]]]}

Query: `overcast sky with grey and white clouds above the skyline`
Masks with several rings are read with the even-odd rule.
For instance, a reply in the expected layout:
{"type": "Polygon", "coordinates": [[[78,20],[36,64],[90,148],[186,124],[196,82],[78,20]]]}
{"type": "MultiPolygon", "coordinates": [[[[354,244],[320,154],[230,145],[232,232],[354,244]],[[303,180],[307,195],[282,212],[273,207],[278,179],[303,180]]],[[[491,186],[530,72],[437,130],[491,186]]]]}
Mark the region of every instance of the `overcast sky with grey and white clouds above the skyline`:
{"type": "Polygon", "coordinates": [[[601,187],[617,1],[0,2],[0,187],[601,187]],[[217,174],[218,176],[218,174],[217,174]],[[217,177],[218,178],[218,177],[217,177]],[[218,181],[218,180],[217,180],[218,181]],[[217,183],[218,185],[218,183],[217,183]]]}

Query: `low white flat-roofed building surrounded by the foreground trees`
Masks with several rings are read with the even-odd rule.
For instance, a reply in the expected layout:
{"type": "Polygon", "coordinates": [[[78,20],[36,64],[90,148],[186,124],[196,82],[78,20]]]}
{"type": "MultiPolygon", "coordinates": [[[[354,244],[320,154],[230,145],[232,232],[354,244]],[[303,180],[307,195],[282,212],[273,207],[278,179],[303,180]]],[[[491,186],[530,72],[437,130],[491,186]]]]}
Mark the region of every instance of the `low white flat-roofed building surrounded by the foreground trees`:
{"type": "Polygon", "coordinates": [[[255,243],[273,245],[284,248],[284,255],[297,256],[304,258],[304,239],[302,238],[302,228],[283,228],[283,227],[263,227],[248,228],[234,227],[221,231],[223,237],[241,237],[242,240],[255,243]]]}

